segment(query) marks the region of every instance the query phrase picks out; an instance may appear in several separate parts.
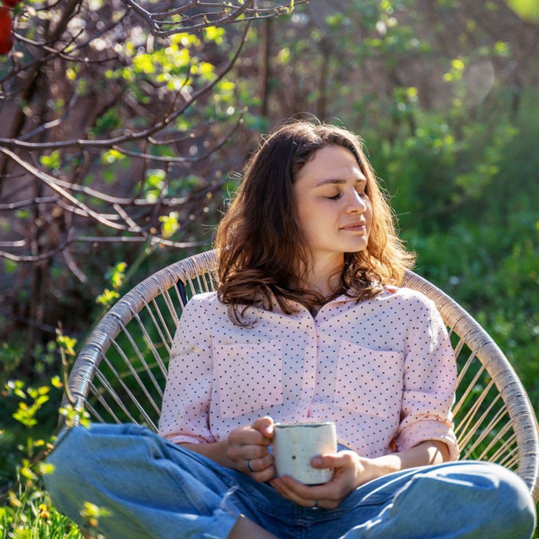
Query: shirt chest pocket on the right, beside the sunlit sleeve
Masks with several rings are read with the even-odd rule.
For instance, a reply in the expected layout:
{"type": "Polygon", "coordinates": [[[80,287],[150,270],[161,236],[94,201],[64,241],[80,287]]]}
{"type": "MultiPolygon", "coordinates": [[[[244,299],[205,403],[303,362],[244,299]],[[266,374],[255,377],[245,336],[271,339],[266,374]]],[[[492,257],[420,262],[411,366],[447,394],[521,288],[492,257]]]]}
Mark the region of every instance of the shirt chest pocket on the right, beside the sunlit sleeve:
{"type": "Polygon", "coordinates": [[[398,423],[402,394],[402,353],[341,342],[334,395],[336,406],[398,423]]]}

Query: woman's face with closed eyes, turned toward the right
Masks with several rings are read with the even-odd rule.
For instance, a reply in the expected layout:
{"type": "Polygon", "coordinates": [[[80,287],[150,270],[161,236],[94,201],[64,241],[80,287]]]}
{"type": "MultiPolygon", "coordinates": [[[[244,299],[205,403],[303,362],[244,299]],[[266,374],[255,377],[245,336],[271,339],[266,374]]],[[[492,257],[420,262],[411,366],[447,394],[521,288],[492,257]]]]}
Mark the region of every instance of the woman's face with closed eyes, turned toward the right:
{"type": "Polygon", "coordinates": [[[299,170],[296,211],[315,259],[367,247],[372,210],[366,185],[354,154],[342,146],[317,150],[299,170]]]}

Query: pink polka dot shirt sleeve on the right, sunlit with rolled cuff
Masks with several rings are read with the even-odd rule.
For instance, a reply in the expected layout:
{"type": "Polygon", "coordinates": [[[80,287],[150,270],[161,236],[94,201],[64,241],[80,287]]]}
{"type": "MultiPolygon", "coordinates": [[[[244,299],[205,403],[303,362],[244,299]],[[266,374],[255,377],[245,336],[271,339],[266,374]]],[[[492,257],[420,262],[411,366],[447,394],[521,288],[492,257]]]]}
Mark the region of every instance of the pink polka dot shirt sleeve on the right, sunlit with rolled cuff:
{"type": "Polygon", "coordinates": [[[457,364],[445,324],[426,298],[417,299],[404,350],[403,400],[395,445],[404,451],[426,440],[446,443],[459,457],[451,406],[457,364]]]}

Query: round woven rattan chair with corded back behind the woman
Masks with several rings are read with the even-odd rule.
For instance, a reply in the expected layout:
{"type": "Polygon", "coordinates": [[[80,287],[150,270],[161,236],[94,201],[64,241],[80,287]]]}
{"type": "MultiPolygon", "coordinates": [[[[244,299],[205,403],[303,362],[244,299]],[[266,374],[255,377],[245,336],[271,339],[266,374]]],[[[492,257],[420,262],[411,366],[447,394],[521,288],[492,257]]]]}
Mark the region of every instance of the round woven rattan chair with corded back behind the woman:
{"type": "MultiPolygon", "coordinates": [[[[215,257],[209,251],[171,264],[103,316],[68,379],[75,410],[85,407],[101,422],[129,421],[157,430],[179,316],[191,295],[213,289],[215,257]]],[[[402,286],[433,300],[450,331],[459,367],[453,413],[461,459],[489,460],[514,470],[537,501],[537,423],[507,358],[458,303],[430,282],[406,272],[402,286]]]]}

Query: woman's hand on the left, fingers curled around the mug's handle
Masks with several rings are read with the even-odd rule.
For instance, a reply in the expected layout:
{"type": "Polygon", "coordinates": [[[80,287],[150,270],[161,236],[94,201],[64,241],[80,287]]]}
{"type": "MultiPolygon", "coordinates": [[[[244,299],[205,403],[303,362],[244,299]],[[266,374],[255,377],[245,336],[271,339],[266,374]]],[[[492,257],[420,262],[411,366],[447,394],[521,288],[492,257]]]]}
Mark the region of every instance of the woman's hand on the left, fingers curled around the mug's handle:
{"type": "Polygon", "coordinates": [[[273,436],[273,418],[269,416],[257,419],[252,425],[232,430],[227,439],[226,456],[233,468],[250,475],[259,483],[273,479],[273,455],[268,452],[273,436]]]}

